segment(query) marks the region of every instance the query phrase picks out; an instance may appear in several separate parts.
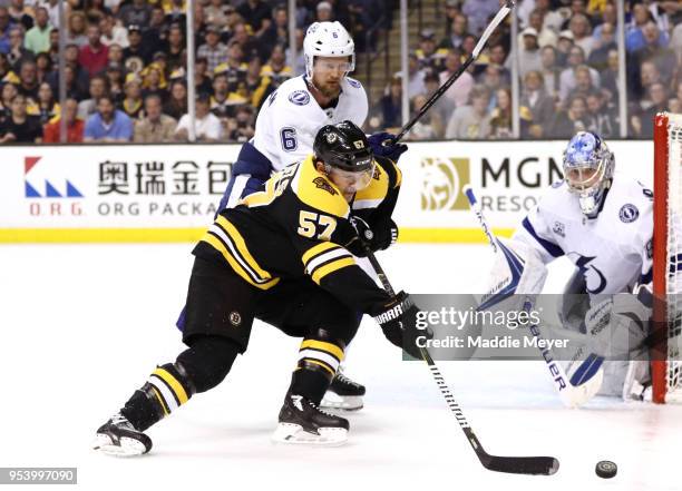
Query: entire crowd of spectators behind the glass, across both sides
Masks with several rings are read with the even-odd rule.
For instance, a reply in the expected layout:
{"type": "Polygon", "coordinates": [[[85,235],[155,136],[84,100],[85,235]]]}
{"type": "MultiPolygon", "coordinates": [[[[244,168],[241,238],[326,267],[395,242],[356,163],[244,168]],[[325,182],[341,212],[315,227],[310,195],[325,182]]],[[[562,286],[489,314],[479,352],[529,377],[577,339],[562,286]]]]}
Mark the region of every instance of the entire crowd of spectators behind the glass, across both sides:
{"type": "MultiPolygon", "coordinates": [[[[626,9],[629,135],[650,138],[652,116],[682,111],[682,2],[622,0],[626,9]]],[[[0,0],[0,143],[186,141],[185,0],[0,0]],[[59,29],[67,45],[59,66],[59,29]],[[57,101],[64,77],[67,100],[57,101]]],[[[394,0],[298,0],[296,57],[282,0],[196,0],[192,67],[199,141],[245,141],[257,110],[284,80],[304,72],[305,28],[340,20],[359,51],[390,19],[394,0]],[[384,16],[382,17],[382,12],[384,16]],[[386,14],[386,12],[389,12],[386,14]]],[[[412,112],[471,53],[500,0],[439,0],[446,36],[423,29],[409,55],[412,112]]],[[[522,0],[518,68],[523,138],[579,129],[620,135],[615,0],[522,0]]],[[[438,27],[438,26],[436,26],[438,27]]],[[[442,29],[437,29],[442,30],[442,29]]],[[[510,24],[412,129],[412,139],[513,135],[510,24]]],[[[401,73],[371,108],[370,128],[401,125],[401,73]]]]}

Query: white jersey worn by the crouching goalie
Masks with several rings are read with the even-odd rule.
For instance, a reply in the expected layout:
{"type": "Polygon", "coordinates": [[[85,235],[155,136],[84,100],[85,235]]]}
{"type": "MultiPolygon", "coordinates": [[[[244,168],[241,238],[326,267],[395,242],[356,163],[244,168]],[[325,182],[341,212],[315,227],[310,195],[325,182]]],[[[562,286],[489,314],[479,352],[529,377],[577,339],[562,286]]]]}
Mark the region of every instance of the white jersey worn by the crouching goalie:
{"type": "Polygon", "coordinates": [[[583,272],[587,293],[616,294],[652,277],[653,194],[616,174],[594,219],[584,218],[576,195],[554,184],[514,234],[549,263],[566,255],[583,272]]]}

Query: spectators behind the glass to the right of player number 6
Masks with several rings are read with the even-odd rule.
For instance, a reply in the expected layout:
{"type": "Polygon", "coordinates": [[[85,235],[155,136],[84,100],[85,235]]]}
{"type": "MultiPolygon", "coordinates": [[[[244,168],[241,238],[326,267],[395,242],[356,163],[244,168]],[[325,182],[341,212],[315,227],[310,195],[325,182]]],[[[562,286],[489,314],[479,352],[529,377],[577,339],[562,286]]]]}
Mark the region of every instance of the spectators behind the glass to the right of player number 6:
{"type": "MultiPolygon", "coordinates": [[[[651,138],[653,116],[682,110],[682,2],[624,2],[629,136],[651,138]]],[[[447,0],[446,36],[420,32],[409,55],[410,111],[471,53],[498,0],[447,0]]],[[[615,0],[518,2],[522,138],[565,138],[577,130],[620,136],[615,0]]],[[[510,22],[411,132],[413,139],[504,139],[513,135],[510,22]]],[[[378,127],[401,126],[397,72],[373,110],[378,127]]]]}

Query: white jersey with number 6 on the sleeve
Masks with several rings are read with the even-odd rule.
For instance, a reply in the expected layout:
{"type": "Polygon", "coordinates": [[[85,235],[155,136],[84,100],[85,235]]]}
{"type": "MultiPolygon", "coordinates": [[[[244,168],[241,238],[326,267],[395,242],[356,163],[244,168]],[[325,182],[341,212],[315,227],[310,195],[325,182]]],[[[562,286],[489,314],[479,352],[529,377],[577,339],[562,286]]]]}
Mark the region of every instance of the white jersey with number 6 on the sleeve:
{"type": "Polygon", "coordinates": [[[312,153],[315,135],[324,125],[350,119],[362,127],[367,111],[367,92],[358,80],[344,77],[335,107],[322,109],[304,77],[292,78],[261,107],[252,144],[267,157],[274,170],[280,170],[312,153]]]}

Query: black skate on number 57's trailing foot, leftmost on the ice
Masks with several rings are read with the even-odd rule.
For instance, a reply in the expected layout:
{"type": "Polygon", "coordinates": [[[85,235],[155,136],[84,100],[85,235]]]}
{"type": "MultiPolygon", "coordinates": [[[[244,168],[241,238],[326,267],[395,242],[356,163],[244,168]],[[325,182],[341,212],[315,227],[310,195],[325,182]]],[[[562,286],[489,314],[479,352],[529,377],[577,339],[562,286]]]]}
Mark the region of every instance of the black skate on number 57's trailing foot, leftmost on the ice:
{"type": "Polygon", "coordinates": [[[142,455],[152,450],[152,439],[116,413],[97,430],[92,449],[116,456],[142,455]]]}

